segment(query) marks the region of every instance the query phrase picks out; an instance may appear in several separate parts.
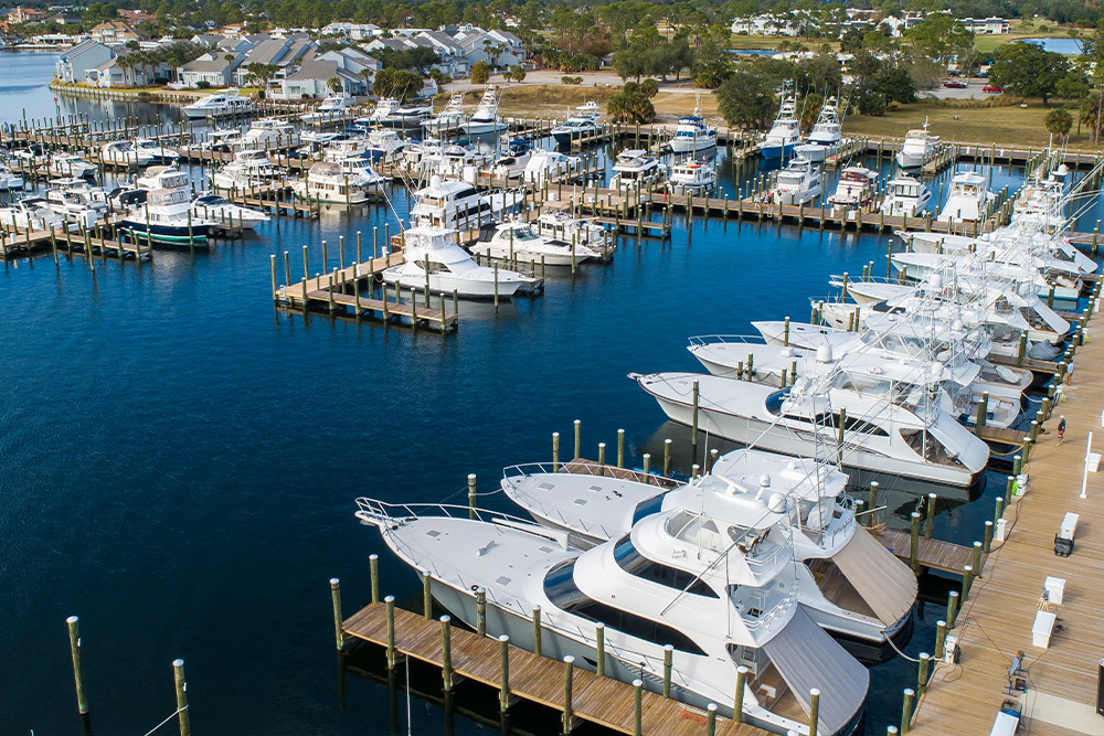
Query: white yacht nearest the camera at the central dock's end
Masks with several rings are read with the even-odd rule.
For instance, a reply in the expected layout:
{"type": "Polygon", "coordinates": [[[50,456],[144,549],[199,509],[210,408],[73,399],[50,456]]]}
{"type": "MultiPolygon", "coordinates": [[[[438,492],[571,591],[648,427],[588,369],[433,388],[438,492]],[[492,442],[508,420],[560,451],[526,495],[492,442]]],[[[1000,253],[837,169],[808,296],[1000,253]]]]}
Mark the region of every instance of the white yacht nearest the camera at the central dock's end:
{"type": "Polygon", "coordinates": [[[534,280],[528,276],[480,266],[457,244],[457,232],[444,227],[411,227],[403,233],[403,263],[383,271],[383,280],[404,289],[434,294],[509,299],[534,280]]]}

